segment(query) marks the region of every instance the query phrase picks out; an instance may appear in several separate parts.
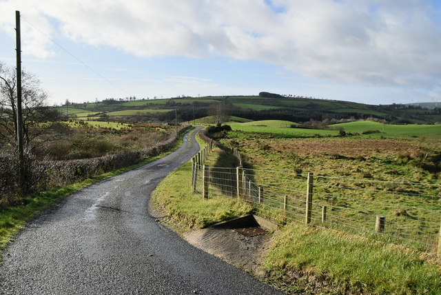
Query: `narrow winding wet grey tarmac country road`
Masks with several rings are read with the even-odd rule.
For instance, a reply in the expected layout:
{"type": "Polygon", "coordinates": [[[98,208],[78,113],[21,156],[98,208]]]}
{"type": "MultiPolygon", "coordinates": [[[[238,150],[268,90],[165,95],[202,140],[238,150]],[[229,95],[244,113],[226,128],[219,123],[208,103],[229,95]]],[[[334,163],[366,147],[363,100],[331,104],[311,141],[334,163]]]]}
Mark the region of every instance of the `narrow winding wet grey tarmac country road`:
{"type": "Polygon", "coordinates": [[[154,187],[197,152],[195,133],[163,159],[37,216],[3,253],[0,294],[279,294],[149,214],[154,187]]]}

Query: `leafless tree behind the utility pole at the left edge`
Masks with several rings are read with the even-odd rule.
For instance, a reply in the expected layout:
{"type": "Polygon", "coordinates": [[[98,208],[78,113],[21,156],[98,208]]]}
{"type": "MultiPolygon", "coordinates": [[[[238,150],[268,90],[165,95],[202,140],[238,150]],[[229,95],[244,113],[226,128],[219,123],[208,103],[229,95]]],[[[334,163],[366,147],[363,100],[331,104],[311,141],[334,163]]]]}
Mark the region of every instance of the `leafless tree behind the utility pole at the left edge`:
{"type": "MultiPolygon", "coordinates": [[[[47,94],[33,74],[22,72],[23,136],[27,152],[41,145],[50,125],[42,122],[60,118],[58,110],[45,106],[47,94]]],[[[17,75],[15,68],[0,62],[0,145],[17,144],[17,75]]],[[[46,136],[47,137],[47,136],[46,136]]]]}

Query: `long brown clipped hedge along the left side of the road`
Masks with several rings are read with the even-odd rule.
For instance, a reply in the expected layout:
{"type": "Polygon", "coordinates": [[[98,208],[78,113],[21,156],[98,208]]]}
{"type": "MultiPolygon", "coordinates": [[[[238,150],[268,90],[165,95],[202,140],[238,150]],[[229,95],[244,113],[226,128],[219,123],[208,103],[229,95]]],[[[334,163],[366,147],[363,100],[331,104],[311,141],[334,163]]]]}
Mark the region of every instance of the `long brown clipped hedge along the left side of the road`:
{"type": "MultiPolygon", "coordinates": [[[[180,128],[179,132],[187,126],[180,128]]],[[[91,176],[121,169],[139,163],[143,156],[156,156],[169,150],[176,141],[169,139],[138,152],[121,152],[91,159],[65,161],[37,161],[25,156],[25,185],[20,185],[17,160],[11,154],[0,153],[0,208],[20,203],[24,196],[47,190],[50,187],[67,185],[88,179],[91,176]]],[[[101,143],[99,143],[101,144],[101,143]]]]}

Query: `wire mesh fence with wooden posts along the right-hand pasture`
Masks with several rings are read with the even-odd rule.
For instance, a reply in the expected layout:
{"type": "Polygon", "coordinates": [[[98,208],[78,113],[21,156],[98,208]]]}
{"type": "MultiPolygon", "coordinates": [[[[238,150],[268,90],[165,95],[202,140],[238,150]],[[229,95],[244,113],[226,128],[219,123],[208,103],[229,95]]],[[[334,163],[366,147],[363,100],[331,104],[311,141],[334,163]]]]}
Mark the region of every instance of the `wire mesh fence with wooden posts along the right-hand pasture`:
{"type": "Polygon", "coordinates": [[[305,223],[425,252],[441,250],[441,185],[208,167],[205,158],[195,158],[192,166],[193,190],[204,198],[241,199],[278,225],[305,223]]]}

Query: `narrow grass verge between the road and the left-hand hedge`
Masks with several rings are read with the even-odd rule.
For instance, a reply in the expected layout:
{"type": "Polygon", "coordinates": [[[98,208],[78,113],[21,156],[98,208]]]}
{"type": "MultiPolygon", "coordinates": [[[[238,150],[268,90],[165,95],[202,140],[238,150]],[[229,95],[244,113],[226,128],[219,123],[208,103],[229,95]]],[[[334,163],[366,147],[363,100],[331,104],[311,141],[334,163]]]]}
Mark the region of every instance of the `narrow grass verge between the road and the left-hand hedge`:
{"type": "Polygon", "coordinates": [[[54,201],[63,199],[65,196],[73,194],[74,192],[81,190],[83,187],[92,185],[103,179],[108,179],[112,176],[122,174],[129,170],[133,170],[136,167],[141,167],[156,161],[167,154],[170,154],[181,146],[184,134],[185,132],[181,134],[179,140],[177,140],[174,144],[174,147],[168,152],[164,152],[149,159],[144,159],[143,161],[129,167],[94,176],[90,179],[85,179],[79,183],[73,183],[71,185],[54,188],[53,190],[32,194],[23,200],[23,205],[7,207],[0,210],[0,262],[2,260],[3,249],[6,247],[8,242],[12,240],[13,236],[25,226],[26,221],[29,221],[33,216],[48,208],[52,203],[54,203],[54,201]]]}

